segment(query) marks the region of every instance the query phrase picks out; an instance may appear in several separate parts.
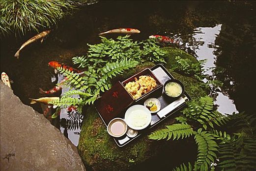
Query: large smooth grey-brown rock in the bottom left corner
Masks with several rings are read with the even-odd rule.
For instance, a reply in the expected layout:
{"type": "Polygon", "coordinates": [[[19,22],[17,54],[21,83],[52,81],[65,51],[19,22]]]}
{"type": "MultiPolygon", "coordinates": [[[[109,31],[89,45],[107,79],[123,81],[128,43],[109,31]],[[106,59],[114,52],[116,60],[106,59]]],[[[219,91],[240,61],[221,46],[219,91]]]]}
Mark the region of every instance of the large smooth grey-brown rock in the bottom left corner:
{"type": "Polygon", "coordinates": [[[0,170],[85,171],[76,147],[0,83],[0,170]]]}

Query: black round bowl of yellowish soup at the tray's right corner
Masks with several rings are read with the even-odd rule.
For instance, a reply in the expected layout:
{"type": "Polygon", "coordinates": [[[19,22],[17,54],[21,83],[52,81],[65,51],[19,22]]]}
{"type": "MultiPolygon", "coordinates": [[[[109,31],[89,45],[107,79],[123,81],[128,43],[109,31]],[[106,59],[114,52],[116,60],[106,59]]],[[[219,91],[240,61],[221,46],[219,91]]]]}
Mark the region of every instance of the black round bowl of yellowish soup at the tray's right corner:
{"type": "Polygon", "coordinates": [[[179,80],[168,80],[164,85],[164,92],[171,98],[179,98],[185,91],[184,85],[179,80]]]}

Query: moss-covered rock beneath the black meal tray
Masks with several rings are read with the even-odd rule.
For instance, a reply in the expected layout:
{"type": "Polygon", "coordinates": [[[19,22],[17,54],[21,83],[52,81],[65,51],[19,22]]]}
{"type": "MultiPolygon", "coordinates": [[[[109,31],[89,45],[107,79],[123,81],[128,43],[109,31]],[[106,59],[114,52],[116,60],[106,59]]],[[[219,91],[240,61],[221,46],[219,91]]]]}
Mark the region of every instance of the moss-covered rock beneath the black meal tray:
{"type": "MultiPolygon", "coordinates": [[[[175,63],[175,57],[189,58],[194,62],[197,60],[186,52],[177,48],[165,48],[168,54],[165,56],[168,68],[175,63]]],[[[144,63],[135,69],[131,69],[122,76],[118,76],[117,80],[124,80],[131,75],[141,71],[146,67],[152,67],[152,63],[144,63]]],[[[178,73],[171,72],[174,78],[184,83],[186,91],[192,98],[198,98],[206,95],[206,92],[201,88],[200,83],[190,77],[182,76],[178,73]]],[[[174,118],[170,117],[162,124],[157,125],[152,131],[163,128],[165,125],[170,125],[174,122],[174,118]]],[[[94,107],[89,107],[86,111],[82,131],[79,139],[79,152],[87,167],[96,171],[120,171],[133,169],[135,166],[141,165],[147,159],[150,159],[158,154],[160,147],[166,146],[171,141],[152,141],[146,136],[138,138],[119,148],[113,138],[108,134],[106,126],[99,117],[94,107]]]]}

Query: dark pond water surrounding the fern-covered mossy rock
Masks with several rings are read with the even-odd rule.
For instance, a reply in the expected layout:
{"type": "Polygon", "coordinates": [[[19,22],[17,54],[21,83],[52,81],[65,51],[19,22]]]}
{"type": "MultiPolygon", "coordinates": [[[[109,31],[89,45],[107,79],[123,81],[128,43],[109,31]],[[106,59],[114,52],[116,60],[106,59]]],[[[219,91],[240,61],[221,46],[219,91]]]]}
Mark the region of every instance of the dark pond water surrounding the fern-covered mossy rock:
{"type": "MultiPolygon", "coordinates": [[[[254,112],[255,7],[255,1],[100,1],[61,21],[42,44],[36,42],[25,47],[19,60],[14,58],[15,52],[35,33],[17,39],[1,37],[0,71],[9,75],[14,81],[14,93],[29,105],[28,98],[44,96],[38,93],[39,87],[50,89],[55,85],[51,81],[54,71],[48,62],[72,65],[72,57],[86,54],[86,43],[100,42],[98,33],[119,27],[138,28],[141,33],[133,35],[134,40],[155,34],[171,36],[181,41],[180,48],[188,53],[208,59],[205,67],[217,67],[209,74],[224,83],[215,102],[219,111],[254,112]]],[[[42,113],[39,104],[30,106],[42,113]]],[[[64,115],[60,118],[70,119],[64,115]]],[[[77,145],[80,128],[67,130],[63,125],[65,120],[60,122],[60,130],[77,145]]],[[[172,162],[163,159],[161,166],[150,165],[151,170],[166,170],[183,161],[195,160],[196,155],[192,154],[193,151],[196,154],[195,144],[187,146],[181,142],[180,147],[180,151],[172,147],[163,150],[163,153],[173,152],[175,157],[172,162]]]]}

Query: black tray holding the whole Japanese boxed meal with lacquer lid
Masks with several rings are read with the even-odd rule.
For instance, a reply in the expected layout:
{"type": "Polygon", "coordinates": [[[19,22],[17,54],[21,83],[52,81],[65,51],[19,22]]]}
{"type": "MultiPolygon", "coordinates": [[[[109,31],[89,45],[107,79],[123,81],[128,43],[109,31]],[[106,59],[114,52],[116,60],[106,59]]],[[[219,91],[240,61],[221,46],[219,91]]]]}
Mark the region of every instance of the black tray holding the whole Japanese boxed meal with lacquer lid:
{"type": "Polygon", "coordinates": [[[115,137],[119,147],[191,99],[180,81],[173,79],[163,65],[157,66],[154,72],[147,68],[122,83],[117,82],[96,103],[108,133],[115,137]]]}

